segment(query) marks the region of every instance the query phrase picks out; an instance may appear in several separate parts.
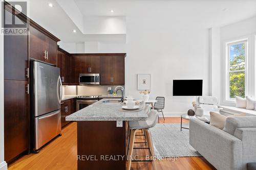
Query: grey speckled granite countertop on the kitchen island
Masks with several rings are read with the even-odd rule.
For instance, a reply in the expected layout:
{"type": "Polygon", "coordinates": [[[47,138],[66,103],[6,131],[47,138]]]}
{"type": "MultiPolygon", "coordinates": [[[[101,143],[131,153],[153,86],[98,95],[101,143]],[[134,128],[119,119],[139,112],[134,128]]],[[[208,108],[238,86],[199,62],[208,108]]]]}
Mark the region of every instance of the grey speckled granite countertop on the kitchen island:
{"type": "MultiPolygon", "coordinates": [[[[105,99],[109,100],[109,99],[105,99]]],[[[138,112],[120,111],[121,103],[103,103],[100,100],[86,108],[83,108],[66,117],[67,121],[116,121],[116,120],[145,120],[147,114],[141,110],[138,112]]],[[[111,99],[115,100],[115,99],[111,99]]],[[[116,99],[118,100],[118,99],[116,99]]]]}

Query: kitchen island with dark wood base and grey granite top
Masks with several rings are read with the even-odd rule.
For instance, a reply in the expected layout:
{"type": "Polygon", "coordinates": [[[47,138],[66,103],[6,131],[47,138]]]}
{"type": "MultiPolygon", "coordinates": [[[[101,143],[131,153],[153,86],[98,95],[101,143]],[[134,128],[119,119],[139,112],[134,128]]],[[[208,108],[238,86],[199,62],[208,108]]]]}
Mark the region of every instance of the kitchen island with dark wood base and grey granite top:
{"type": "Polygon", "coordinates": [[[127,121],[147,114],[120,111],[119,99],[103,99],[66,117],[77,122],[78,169],[125,169],[127,121]]]}

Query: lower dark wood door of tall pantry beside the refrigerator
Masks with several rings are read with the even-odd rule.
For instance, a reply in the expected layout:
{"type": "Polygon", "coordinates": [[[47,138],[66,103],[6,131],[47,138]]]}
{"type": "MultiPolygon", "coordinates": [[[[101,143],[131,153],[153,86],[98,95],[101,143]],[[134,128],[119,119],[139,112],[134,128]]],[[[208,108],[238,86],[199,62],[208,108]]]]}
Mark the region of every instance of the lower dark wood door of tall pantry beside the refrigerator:
{"type": "Polygon", "coordinates": [[[5,80],[5,160],[12,162],[29,150],[27,81],[5,80]]]}

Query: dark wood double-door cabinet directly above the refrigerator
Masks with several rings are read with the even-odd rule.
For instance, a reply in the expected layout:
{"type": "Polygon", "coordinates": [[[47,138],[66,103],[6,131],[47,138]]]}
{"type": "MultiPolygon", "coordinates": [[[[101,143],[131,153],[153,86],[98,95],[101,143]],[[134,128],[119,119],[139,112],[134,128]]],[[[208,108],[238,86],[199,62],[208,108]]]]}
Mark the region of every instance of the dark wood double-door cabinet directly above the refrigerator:
{"type": "Polygon", "coordinates": [[[29,27],[29,57],[56,65],[57,41],[58,38],[33,23],[29,27]]]}

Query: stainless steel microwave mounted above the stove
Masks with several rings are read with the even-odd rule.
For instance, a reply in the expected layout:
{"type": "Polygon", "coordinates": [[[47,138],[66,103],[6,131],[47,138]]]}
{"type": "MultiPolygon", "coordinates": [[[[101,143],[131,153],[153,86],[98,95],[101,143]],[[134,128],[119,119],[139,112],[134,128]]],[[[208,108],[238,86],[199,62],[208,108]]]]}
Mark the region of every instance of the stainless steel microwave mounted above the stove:
{"type": "Polygon", "coordinates": [[[79,84],[99,85],[99,74],[79,74],[79,84]]]}

